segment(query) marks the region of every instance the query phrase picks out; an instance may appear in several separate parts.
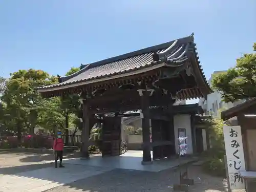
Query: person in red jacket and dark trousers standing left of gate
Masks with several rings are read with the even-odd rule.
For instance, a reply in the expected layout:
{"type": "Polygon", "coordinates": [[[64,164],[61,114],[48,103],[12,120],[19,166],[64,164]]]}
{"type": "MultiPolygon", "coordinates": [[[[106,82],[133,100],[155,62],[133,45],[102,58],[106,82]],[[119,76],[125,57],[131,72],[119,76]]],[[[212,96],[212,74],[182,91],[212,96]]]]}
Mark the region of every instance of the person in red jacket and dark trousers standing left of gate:
{"type": "Polygon", "coordinates": [[[57,168],[58,159],[59,159],[59,167],[64,167],[62,165],[64,142],[61,135],[62,134],[60,131],[57,132],[57,138],[55,138],[53,142],[53,151],[55,155],[55,168],[57,168]]]}

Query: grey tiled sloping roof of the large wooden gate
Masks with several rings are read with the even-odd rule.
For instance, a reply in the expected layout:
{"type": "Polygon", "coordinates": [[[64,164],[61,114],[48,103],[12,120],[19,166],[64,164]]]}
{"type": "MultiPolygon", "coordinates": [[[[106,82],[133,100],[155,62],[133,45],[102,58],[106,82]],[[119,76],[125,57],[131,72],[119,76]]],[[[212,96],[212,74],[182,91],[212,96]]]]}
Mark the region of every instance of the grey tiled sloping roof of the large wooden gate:
{"type": "MultiPolygon", "coordinates": [[[[173,67],[179,66],[181,63],[184,63],[191,54],[197,57],[195,46],[194,34],[192,34],[157,46],[83,65],[81,70],[77,73],[60,77],[59,83],[39,87],[38,91],[48,92],[62,90],[111,78],[140,74],[163,67],[166,63],[173,67]]],[[[198,58],[199,57],[196,59],[199,65],[200,61],[198,61],[198,58]]],[[[207,84],[201,66],[198,68],[200,69],[203,80],[207,84]]]]}

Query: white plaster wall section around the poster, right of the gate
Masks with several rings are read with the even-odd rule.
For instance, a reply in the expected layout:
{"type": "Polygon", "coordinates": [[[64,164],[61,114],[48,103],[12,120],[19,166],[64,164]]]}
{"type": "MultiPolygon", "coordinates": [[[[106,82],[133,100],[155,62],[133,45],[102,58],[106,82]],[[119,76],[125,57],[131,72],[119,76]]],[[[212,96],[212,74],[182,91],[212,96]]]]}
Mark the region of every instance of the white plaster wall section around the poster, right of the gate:
{"type": "Polygon", "coordinates": [[[193,154],[190,115],[184,114],[184,115],[174,116],[174,134],[175,134],[176,154],[179,154],[178,129],[186,129],[187,147],[188,147],[187,154],[193,154]]]}

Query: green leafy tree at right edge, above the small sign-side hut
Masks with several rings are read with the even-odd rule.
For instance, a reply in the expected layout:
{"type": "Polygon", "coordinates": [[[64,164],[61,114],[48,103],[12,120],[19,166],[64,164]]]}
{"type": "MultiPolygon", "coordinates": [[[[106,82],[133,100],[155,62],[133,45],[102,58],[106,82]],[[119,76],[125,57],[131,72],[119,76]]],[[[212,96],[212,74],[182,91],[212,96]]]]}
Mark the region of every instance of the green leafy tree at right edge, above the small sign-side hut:
{"type": "MultiPolygon", "coordinates": [[[[256,51],[256,43],[253,45],[256,51]]],[[[256,53],[244,54],[236,66],[214,76],[212,87],[222,94],[225,102],[256,96],[256,53]]]]}

